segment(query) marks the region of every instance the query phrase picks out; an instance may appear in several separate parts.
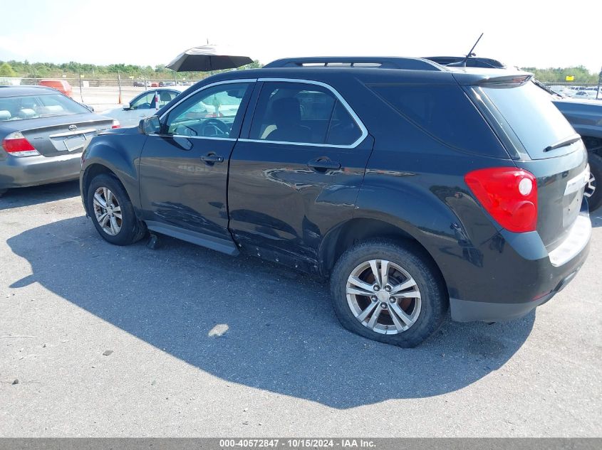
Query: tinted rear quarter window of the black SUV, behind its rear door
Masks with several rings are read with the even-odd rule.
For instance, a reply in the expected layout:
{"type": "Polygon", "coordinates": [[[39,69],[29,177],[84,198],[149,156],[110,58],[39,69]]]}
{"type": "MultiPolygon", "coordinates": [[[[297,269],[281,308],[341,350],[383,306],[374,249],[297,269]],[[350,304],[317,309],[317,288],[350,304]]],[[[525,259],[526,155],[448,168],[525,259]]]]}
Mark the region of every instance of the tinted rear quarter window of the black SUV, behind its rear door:
{"type": "Polygon", "coordinates": [[[415,126],[457,149],[505,154],[497,136],[457,85],[368,85],[415,126]]]}

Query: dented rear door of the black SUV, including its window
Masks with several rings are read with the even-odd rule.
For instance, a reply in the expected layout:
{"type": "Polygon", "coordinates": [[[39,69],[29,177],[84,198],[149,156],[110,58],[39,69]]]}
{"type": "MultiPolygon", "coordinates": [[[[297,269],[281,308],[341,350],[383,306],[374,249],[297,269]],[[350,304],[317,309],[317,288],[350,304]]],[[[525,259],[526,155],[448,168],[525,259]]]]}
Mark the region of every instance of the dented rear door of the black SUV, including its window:
{"type": "Polygon", "coordinates": [[[323,235],[353,215],[373,139],[327,85],[260,88],[230,159],[230,230],[247,252],[315,272],[323,235]]]}

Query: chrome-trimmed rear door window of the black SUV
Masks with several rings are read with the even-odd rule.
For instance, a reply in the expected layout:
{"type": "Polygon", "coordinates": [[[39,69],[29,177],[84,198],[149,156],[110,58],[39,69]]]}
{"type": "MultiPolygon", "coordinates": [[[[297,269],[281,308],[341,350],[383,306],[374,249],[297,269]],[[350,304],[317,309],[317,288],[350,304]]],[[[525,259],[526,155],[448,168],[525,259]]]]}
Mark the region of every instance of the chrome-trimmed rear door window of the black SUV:
{"type": "Polygon", "coordinates": [[[362,132],[326,87],[265,82],[257,100],[250,139],[298,144],[351,145],[362,132]]]}

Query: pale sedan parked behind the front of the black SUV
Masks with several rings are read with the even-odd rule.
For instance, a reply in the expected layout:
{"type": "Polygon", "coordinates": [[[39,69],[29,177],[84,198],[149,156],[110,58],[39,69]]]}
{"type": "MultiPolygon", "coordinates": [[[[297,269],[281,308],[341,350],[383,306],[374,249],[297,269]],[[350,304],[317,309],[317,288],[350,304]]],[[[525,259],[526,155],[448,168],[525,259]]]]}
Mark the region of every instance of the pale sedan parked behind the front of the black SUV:
{"type": "Polygon", "coordinates": [[[135,127],[141,119],[152,116],[157,109],[167,105],[180,95],[177,89],[152,89],[142,92],[123,107],[103,111],[103,115],[119,121],[122,127],[135,127]],[[158,102],[157,102],[158,99],[158,102]]]}

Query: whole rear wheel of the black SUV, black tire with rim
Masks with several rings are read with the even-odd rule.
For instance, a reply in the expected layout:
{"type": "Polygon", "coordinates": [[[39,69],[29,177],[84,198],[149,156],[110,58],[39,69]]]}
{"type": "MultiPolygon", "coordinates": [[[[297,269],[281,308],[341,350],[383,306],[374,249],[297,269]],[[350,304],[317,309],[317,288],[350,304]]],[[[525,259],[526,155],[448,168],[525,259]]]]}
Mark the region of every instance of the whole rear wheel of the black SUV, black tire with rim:
{"type": "Polygon", "coordinates": [[[367,240],[344,252],[331,274],[331,294],[336,316],[349,331],[405,348],[415,347],[432,336],[441,326],[449,305],[445,283],[430,259],[417,249],[391,240],[367,240]],[[376,264],[379,273],[383,272],[383,265],[388,267],[389,285],[378,286],[381,288],[378,292],[370,285],[375,281],[370,261],[376,264]],[[350,283],[352,275],[357,279],[350,283]],[[358,281],[363,282],[363,288],[358,281]],[[400,289],[404,284],[407,287],[400,289]],[[364,293],[368,291],[366,288],[372,288],[374,295],[350,293],[364,293]],[[364,318],[368,309],[372,312],[364,318]],[[378,309],[380,312],[373,321],[378,309]],[[400,310],[405,318],[398,313],[400,310]]]}

